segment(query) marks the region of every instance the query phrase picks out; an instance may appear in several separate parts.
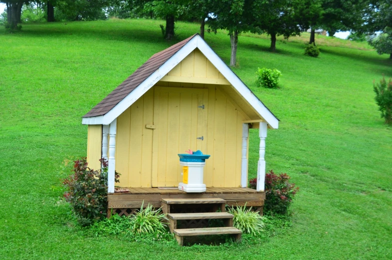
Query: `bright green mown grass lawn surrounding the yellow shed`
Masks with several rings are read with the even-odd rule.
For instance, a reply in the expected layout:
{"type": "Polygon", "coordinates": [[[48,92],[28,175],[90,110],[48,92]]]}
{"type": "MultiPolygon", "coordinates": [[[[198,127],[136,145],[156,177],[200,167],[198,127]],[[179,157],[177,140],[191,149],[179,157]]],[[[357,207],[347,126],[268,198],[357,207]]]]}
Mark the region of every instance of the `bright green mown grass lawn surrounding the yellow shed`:
{"type": "MultiPolygon", "coordinates": [[[[267,136],[267,168],[300,186],[293,225],[260,242],[193,245],[94,237],[74,226],[62,202],[64,160],[85,156],[81,116],[153,53],[159,20],[23,24],[0,28],[1,259],[387,259],[392,258],[392,127],[380,118],[373,80],[392,62],[366,43],[318,36],[321,55],[303,55],[309,34],[239,37],[234,71],[280,118],[267,136]],[[280,89],[256,87],[257,67],[282,71],[280,89]]],[[[198,24],[177,23],[178,40],[198,24]]],[[[228,63],[224,31],[206,34],[228,63]]],[[[251,131],[250,177],[257,131],[251,131]]]]}

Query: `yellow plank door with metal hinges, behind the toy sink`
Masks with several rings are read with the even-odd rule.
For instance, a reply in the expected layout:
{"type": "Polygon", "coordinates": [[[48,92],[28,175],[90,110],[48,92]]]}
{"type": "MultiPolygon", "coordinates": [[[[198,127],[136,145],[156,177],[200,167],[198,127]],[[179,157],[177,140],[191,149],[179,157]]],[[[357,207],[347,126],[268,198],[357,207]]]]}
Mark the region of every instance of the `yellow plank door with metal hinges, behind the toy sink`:
{"type": "Polygon", "coordinates": [[[176,187],[182,181],[178,153],[206,152],[207,100],[206,88],[155,86],[153,187],[176,187]]]}

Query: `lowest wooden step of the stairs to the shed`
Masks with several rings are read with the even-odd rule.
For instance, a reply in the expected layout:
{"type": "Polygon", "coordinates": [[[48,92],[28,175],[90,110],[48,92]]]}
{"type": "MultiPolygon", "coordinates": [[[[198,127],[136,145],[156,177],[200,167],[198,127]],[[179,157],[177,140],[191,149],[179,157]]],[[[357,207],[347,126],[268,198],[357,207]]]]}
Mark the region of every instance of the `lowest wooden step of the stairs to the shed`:
{"type": "Polygon", "coordinates": [[[191,235],[235,234],[236,240],[239,242],[241,240],[241,233],[240,229],[232,226],[174,229],[174,234],[179,245],[183,245],[184,236],[191,235]]]}

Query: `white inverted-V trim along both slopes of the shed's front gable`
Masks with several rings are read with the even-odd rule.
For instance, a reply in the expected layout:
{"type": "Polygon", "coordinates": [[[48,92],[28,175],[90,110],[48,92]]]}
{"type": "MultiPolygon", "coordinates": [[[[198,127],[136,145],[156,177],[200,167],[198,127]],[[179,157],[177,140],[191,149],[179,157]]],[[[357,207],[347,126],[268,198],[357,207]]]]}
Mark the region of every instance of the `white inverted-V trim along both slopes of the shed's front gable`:
{"type": "Polygon", "coordinates": [[[140,98],[148,89],[157,83],[164,75],[173,69],[195,48],[207,57],[208,60],[222,73],[222,75],[234,86],[241,94],[266,120],[272,128],[278,128],[279,120],[268,108],[256,97],[256,95],[238,78],[238,76],[222,61],[222,59],[211,49],[210,46],[201,38],[195,35],[184,46],[182,46],[173,56],[163,63],[156,71],[147,77],[140,85],[130,92],[124,99],[116,104],[105,115],[94,117],[83,117],[83,124],[109,124],[140,98]]]}

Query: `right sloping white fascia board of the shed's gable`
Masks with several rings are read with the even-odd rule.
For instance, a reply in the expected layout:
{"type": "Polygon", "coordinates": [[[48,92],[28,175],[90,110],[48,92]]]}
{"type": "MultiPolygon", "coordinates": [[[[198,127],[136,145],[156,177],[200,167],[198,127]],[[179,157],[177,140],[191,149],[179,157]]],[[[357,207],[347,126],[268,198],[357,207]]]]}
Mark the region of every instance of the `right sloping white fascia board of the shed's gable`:
{"type": "Polygon", "coordinates": [[[212,50],[210,46],[199,36],[197,47],[211,61],[211,63],[222,73],[224,77],[237,89],[237,91],[256,109],[256,111],[274,129],[279,126],[279,120],[268,108],[256,97],[256,95],[238,78],[238,76],[226,65],[225,62],[212,50]]]}

